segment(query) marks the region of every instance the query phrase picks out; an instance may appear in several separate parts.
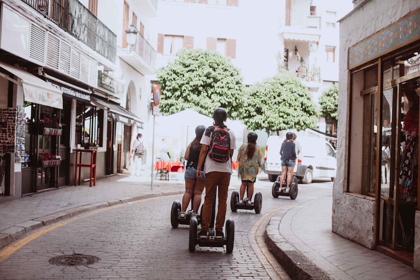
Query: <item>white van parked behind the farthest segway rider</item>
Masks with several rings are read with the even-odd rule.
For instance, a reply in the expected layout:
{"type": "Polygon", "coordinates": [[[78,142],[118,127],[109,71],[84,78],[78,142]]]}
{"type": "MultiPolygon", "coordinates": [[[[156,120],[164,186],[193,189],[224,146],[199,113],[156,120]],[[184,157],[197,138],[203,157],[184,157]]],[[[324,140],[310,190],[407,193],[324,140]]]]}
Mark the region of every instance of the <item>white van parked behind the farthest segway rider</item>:
{"type": "MultiPolygon", "coordinates": [[[[285,136],[271,135],[267,139],[264,157],[264,172],[274,182],[282,174],[280,148],[285,136]]],[[[337,159],[331,144],[322,138],[299,137],[295,142],[298,151],[298,163],[294,173],[304,184],[310,184],[312,178],[330,177],[334,180],[337,159]]]]}

